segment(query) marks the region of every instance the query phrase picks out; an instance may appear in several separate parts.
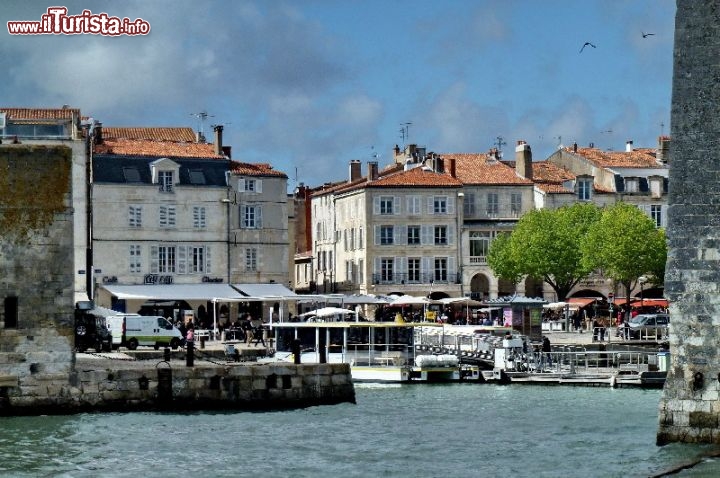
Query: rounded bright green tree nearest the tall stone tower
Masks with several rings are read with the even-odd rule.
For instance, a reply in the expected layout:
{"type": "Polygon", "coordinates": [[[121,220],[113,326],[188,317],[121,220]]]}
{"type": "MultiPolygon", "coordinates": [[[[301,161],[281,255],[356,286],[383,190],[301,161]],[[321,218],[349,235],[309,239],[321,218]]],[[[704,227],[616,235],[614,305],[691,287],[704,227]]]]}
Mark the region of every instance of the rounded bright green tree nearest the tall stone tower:
{"type": "Polygon", "coordinates": [[[627,309],[630,291],[641,276],[662,282],[667,260],[665,231],[636,206],[624,202],[606,207],[600,220],[588,231],[582,244],[583,263],[601,269],[625,289],[627,309]]]}

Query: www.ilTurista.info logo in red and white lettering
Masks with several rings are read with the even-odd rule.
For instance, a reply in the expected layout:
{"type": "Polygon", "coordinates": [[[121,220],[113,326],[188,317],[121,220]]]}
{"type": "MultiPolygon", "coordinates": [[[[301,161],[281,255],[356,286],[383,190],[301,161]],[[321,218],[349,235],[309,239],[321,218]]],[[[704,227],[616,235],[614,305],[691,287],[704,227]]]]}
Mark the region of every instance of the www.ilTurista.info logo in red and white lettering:
{"type": "Polygon", "coordinates": [[[50,7],[40,21],[8,22],[11,35],[147,35],[150,24],[138,18],[111,17],[107,13],[83,10],[80,15],[68,15],[65,7],[50,7]]]}

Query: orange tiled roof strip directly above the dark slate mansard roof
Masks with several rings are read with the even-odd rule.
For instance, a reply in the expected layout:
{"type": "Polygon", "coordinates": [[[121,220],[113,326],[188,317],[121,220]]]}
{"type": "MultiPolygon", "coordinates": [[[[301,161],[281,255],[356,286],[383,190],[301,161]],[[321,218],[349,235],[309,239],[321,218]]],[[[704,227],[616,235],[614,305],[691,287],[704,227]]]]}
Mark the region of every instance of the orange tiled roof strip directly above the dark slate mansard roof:
{"type": "Polygon", "coordinates": [[[215,154],[209,143],[181,143],[174,141],[148,141],[134,139],[109,139],[96,144],[95,154],[117,154],[125,156],[157,156],[175,158],[225,159],[215,154]]]}

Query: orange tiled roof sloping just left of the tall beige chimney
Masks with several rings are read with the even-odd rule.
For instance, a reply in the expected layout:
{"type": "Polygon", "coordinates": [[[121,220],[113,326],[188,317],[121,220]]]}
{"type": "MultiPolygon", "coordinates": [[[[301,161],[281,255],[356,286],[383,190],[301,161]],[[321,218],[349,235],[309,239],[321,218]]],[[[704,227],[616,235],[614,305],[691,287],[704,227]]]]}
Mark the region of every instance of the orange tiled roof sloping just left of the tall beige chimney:
{"type": "Polygon", "coordinates": [[[464,184],[532,185],[502,161],[488,161],[485,153],[443,153],[440,157],[455,159],[457,178],[464,184]]]}

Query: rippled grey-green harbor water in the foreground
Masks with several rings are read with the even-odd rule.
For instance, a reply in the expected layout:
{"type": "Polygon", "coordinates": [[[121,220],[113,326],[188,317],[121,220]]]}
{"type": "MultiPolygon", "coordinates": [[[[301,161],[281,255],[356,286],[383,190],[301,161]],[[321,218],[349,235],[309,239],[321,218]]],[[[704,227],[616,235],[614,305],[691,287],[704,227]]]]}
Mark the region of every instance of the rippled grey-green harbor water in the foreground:
{"type": "Polygon", "coordinates": [[[655,446],[660,393],[360,384],[301,410],[2,418],[0,476],[652,476],[712,450],[655,446]]]}

